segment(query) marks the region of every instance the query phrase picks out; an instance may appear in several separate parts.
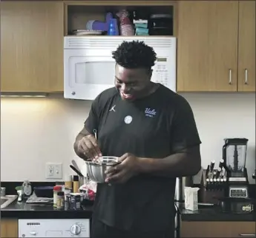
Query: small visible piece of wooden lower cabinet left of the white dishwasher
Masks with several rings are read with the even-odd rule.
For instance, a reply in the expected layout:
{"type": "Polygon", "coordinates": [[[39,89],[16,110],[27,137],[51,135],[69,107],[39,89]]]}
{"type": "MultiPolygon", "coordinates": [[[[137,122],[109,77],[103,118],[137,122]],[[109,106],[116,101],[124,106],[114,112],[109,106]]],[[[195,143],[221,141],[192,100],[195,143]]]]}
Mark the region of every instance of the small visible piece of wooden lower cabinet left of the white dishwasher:
{"type": "Polygon", "coordinates": [[[17,219],[1,219],[0,220],[1,238],[18,237],[18,220],[17,219]]]}

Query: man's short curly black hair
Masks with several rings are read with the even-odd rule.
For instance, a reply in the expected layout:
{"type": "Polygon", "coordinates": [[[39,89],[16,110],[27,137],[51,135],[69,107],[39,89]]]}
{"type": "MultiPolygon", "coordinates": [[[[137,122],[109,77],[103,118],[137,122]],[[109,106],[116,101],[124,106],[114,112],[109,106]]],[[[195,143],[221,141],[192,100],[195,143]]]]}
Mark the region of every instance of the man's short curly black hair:
{"type": "Polygon", "coordinates": [[[112,58],[126,69],[151,69],[157,60],[157,54],[144,41],[123,41],[116,51],[112,52],[112,58]]]}

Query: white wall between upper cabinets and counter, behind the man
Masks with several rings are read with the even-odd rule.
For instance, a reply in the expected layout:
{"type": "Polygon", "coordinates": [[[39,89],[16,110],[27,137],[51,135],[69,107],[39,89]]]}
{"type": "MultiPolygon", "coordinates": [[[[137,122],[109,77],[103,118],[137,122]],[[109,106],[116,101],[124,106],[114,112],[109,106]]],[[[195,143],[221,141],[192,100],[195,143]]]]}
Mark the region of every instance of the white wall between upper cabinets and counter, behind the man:
{"type": "MultiPolygon", "coordinates": [[[[202,140],[203,167],[222,157],[223,138],[247,137],[249,176],[255,169],[255,94],[184,94],[194,110],[202,140]]],[[[74,138],[82,129],[90,101],[1,98],[1,181],[45,179],[45,163],[70,161],[74,138]]]]}

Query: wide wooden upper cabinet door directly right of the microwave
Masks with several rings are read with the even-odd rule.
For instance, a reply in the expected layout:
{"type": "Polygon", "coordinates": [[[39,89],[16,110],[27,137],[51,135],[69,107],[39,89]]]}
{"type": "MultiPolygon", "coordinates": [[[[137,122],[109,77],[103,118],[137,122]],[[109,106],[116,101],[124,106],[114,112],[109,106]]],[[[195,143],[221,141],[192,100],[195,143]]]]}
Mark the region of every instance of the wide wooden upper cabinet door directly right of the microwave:
{"type": "Polygon", "coordinates": [[[179,1],[178,92],[237,91],[238,1],[179,1]]]}

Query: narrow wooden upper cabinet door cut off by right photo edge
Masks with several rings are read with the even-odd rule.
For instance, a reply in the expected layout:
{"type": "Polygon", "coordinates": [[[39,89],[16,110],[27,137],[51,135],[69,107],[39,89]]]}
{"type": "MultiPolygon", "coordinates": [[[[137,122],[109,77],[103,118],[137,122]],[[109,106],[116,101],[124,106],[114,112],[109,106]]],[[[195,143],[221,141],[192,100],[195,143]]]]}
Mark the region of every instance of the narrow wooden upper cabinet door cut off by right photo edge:
{"type": "Polygon", "coordinates": [[[240,1],[238,91],[255,92],[255,81],[255,1],[240,1]]]}

